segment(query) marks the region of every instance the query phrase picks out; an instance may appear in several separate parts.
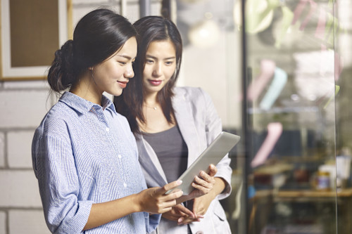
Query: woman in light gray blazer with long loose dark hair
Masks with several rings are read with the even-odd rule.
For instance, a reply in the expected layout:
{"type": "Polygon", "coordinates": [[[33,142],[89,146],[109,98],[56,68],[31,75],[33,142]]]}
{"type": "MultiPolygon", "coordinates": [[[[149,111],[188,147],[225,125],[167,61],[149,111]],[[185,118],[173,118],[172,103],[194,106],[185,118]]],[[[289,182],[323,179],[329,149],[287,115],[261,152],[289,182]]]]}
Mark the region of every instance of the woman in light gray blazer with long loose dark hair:
{"type": "MultiPolygon", "coordinates": [[[[206,92],[175,87],[182,60],[182,39],[175,24],[147,16],[134,27],[139,34],[134,79],[114,103],[137,139],[147,186],[163,186],[196,160],[220,134],[222,124],[206,92]]],[[[156,233],[231,233],[219,202],[231,193],[230,158],[225,156],[216,168],[208,193],[172,207],[163,214],[156,233]]]]}

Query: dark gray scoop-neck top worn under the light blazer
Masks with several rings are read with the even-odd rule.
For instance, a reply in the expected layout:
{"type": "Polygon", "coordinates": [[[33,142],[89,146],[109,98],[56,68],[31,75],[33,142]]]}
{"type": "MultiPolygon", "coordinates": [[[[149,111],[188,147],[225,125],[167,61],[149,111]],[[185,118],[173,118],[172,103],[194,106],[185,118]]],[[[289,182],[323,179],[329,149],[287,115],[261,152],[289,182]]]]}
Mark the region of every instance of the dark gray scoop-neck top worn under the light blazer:
{"type": "Polygon", "coordinates": [[[144,139],[156,152],[168,182],[177,180],[187,169],[187,145],[178,126],[158,132],[144,133],[144,139]]]}

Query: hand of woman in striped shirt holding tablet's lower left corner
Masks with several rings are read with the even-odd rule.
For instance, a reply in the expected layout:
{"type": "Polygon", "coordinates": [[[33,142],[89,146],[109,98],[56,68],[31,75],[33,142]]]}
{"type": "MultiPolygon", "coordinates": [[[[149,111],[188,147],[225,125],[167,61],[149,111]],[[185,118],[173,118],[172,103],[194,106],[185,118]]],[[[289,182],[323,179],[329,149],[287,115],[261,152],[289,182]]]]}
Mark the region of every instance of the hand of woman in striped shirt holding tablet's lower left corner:
{"type": "Polygon", "coordinates": [[[179,186],[182,181],[173,181],[166,184],[162,188],[154,187],[143,190],[137,194],[137,203],[140,211],[149,212],[152,214],[162,214],[168,212],[176,204],[176,199],[182,196],[181,190],[175,190],[172,193],[165,195],[166,191],[179,186]]]}

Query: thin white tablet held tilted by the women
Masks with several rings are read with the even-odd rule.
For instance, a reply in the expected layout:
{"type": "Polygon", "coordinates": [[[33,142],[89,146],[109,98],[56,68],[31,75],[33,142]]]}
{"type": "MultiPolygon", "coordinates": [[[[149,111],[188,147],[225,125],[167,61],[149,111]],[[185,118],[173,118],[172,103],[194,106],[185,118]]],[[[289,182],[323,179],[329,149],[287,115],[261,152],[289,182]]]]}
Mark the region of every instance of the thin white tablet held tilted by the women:
{"type": "MultiPolygon", "coordinates": [[[[216,166],[216,164],[218,164],[218,162],[220,162],[220,160],[225,157],[227,152],[230,152],[230,150],[234,148],[234,145],[239,142],[240,138],[240,136],[222,131],[215,138],[215,140],[210,143],[208,148],[206,148],[206,150],[204,150],[201,155],[199,155],[196,161],[194,161],[191,166],[189,166],[189,168],[184,171],[180,178],[178,178],[182,181],[182,184],[176,188],[173,188],[172,190],[180,189],[183,191],[183,195],[188,195],[191,193],[191,191],[194,190],[194,188],[191,186],[191,183],[194,181],[194,176],[198,176],[199,171],[201,170],[208,173],[209,165],[214,164],[216,166]]],[[[171,193],[172,190],[168,190],[165,194],[171,193]]]]}

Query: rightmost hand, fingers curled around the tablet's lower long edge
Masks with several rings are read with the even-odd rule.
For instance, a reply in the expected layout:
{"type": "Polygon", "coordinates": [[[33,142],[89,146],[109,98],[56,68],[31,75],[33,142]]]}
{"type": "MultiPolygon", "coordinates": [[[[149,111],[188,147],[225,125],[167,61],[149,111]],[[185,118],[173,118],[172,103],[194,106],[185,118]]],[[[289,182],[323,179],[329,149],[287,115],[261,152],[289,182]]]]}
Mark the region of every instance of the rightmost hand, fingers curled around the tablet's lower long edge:
{"type": "Polygon", "coordinates": [[[196,176],[194,178],[194,182],[192,183],[192,187],[196,188],[195,190],[191,191],[189,193],[189,200],[195,198],[195,197],[200,197],[203,195],[208,194],[212,189],[213,186],[215,185],[215,174],[218,172],[218,169],[213,165],[209,165],[209,173],[206,174],[205,171],[201,171],[199,173],[199,176],[196,176]]]}

